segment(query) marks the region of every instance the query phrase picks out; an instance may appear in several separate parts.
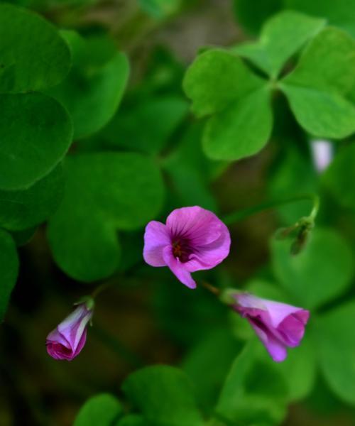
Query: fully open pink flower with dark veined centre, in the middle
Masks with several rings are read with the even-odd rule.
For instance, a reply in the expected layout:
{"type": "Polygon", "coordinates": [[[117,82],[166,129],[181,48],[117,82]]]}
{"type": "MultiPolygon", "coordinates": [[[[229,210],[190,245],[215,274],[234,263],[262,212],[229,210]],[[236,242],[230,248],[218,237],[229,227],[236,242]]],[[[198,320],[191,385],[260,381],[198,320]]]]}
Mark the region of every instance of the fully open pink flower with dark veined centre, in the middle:
{"type": "Polygon", "coordinates": [[[195,288],[191,273],[211,269],[229,254],[226,225],[202,207],[171,212],[166,224],[152,221],[144,234],[143,257],[151,266],[168,266],[182,284],[195,288]]]}

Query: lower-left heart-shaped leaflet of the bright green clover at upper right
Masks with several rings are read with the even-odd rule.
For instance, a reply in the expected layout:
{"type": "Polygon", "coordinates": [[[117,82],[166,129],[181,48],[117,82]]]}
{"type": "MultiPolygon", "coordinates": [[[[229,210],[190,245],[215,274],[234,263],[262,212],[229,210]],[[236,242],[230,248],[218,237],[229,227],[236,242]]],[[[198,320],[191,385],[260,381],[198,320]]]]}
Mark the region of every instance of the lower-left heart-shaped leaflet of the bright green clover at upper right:
{"type": "Polygon", "coordinates": [[[271,89],[236,55],[217,49],[202,53],[187,70],[184,89],[195,114],[214,114],[203,136],[209,157],[238,160],[257,153],[268,141],[271,89]]]}

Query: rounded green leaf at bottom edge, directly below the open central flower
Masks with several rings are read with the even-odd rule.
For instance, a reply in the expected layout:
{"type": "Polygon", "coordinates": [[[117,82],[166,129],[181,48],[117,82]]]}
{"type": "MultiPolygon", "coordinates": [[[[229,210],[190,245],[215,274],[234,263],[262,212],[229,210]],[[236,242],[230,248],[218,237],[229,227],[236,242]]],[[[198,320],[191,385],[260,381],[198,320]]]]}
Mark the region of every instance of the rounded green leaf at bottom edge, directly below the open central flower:
{"type": "Polygon", "coordinates": [[[202,426],[192,384],[182,371],[151,366],[126,379],[124,393],[151,426],[202,426]]]}

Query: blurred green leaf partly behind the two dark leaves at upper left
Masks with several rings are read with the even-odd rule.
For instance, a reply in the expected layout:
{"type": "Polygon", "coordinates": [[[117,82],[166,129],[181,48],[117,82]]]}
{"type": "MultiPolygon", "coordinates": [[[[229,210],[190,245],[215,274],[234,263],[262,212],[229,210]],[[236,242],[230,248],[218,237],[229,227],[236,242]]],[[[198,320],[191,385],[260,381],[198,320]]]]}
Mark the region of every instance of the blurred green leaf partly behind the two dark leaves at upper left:
{"type": "Polygon", "coordinates": [[[49,93],[70,112],[74,137],[101,129],[116,112],[129,77],[129,62],[106,38],[84,40],[73,31],[62,35],[72,50],[67,78],[49,93]]]}

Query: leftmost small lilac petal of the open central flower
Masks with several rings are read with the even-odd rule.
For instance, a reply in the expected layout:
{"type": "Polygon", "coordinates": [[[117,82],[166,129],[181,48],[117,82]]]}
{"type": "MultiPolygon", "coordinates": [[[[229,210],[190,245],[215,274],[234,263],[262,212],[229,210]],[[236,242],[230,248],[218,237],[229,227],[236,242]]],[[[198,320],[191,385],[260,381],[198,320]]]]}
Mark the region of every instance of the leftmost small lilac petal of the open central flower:
{"type": "Polygon", "coordinates": [[[166,226],[160,222],[151,221],[144,233],[143,258],[151,266],[166,266],[163,249],[171,245],[166,226]]]}

